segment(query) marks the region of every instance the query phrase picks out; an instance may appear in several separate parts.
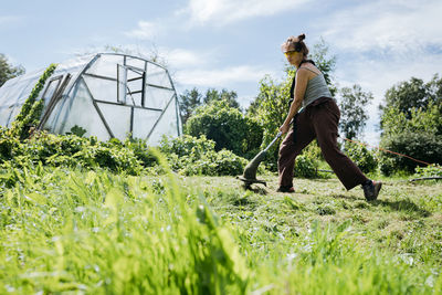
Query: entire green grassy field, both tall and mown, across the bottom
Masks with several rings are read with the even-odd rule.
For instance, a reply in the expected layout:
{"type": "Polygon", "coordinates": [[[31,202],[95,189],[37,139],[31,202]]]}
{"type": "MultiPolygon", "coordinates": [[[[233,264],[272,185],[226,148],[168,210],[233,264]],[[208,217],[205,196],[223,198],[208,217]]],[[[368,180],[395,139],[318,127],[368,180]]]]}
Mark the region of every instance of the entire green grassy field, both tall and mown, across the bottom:
{"type": "Polygon", "coordinates": [[[1,294],[442,294],[442,183],[10,168],[1,294]]]}

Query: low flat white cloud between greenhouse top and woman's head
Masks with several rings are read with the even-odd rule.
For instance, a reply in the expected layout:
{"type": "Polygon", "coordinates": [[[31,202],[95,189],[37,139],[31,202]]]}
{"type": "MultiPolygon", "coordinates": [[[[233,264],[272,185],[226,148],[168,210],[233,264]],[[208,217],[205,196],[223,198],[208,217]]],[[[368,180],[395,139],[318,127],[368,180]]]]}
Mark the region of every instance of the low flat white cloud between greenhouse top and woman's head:
{"type": "Polygon", "coordinates": [[[239,65],[221,70],[187,70],[177,72],[177,81],[185,85],[203,87],[225,87],[233,83],[254,82],[272,74],[273,71],[250,66],[239,65]]]}

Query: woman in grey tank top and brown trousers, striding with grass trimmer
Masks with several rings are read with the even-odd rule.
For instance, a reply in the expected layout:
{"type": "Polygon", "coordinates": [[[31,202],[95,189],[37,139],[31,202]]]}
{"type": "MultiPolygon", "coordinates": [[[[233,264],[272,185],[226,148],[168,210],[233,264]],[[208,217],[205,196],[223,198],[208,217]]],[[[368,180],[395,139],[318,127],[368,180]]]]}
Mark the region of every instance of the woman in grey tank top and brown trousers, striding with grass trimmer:
{"type": "Polygon", "coordinates": [[[323,73],[313,61],[307,60],[308,49],[304,39],[305,34],[290,36],[282,45],[288,63],[296,67],[296,75],[291,89],[293,102],[284,124],[280,127],[280,131],[288,134],[280,148],[278,191],[294,192],[295,158],[316,138],[325,160],[344,187],[349,190],[361,185],[366,199],[376,200],[382,183],[368,179],[337,146],[339,108],[332,98],[323,73]],[[303,110],[297,114],[301,106],[303,110]],[[293,128],[290,129],[292,119],[293,128]]]}

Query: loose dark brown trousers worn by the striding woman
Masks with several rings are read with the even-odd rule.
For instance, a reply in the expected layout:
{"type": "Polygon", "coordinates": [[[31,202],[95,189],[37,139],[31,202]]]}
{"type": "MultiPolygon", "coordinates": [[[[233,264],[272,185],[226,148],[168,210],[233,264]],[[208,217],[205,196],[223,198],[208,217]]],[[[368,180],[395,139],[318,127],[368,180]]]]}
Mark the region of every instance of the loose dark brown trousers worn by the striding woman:
{"type": "Polygon", "coordinates": [[[314,102],[296,117],[296,128],[288,131],[280,148],[280,186],[293,186],[295,159],[314,138],[317,138],[325,160],[347,190],[368,180],[337,146],[339,117],[339,108],[330,98],[314,102]]]}

